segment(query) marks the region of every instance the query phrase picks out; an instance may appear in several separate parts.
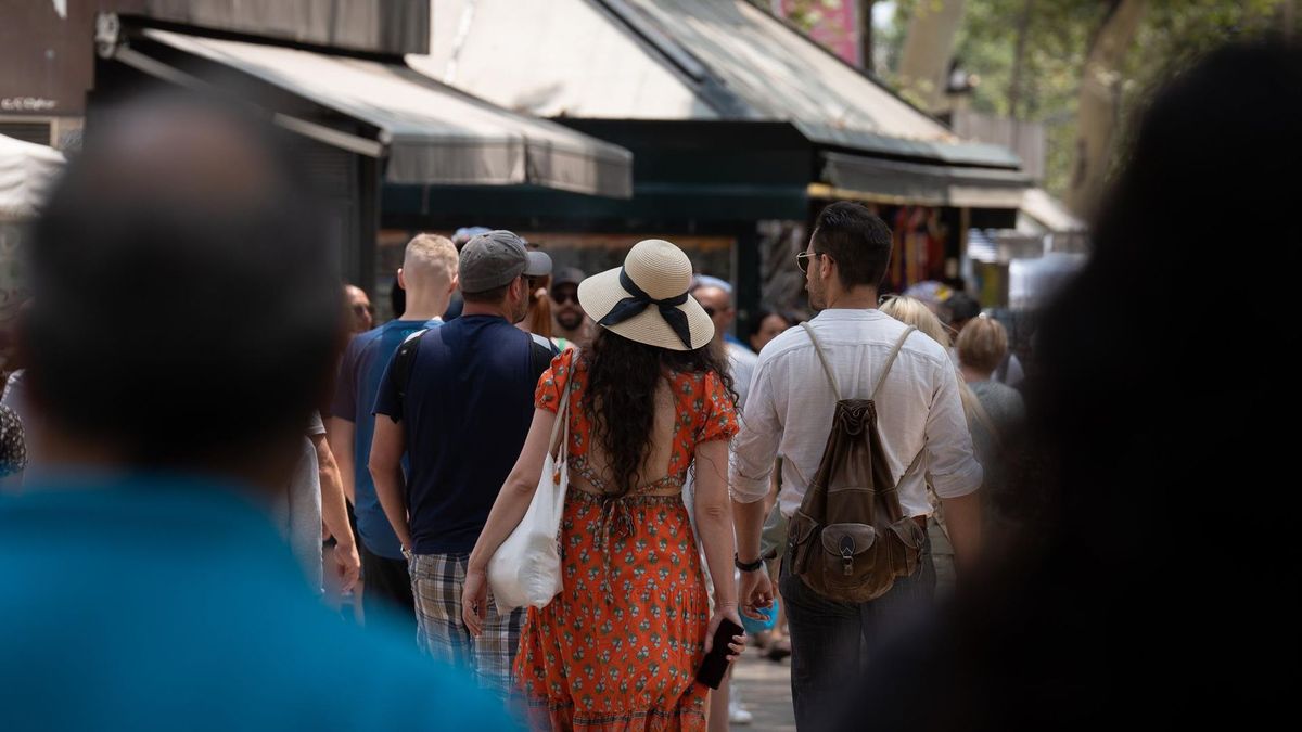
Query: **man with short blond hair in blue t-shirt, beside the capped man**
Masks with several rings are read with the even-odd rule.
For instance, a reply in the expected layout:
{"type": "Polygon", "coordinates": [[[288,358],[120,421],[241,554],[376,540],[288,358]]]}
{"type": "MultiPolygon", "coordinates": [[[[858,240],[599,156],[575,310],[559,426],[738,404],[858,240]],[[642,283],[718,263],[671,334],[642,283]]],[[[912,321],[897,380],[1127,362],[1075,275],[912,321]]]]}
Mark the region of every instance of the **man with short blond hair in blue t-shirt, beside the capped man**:
{"type": "Polygon", "coordinates": [[[397,320],[358,335],[340,361],[336,382],[331,443],[344,475],[344,492],[353,501],[361,535],[362,572],[366,585],[362,603],[368,617],[396,612],[415,630],[411,578],[402,544],[384,517],[375,483],[367,468],[375,431],[375,395],[393,352],[414,332],[443,324],[439,314],[457,287],[457,247],[447,237],[419,234],[406,245],[398,287],[406,293],[406,310],[397,320]]]}

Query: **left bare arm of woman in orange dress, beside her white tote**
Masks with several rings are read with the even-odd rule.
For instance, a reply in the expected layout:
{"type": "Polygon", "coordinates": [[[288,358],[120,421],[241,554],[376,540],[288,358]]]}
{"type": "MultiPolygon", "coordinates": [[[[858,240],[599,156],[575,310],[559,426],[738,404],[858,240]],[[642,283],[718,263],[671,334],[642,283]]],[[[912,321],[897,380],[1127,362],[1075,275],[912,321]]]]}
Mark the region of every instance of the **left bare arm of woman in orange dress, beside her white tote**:
{"type": "Polygon", "coordinates": [[[479,533],[479,541],[470,552],[470,563],[466,567],[466,585],[462,597],[462,619],[473,636],[483,630],[483,620],[488,615],[488,560],[496,554],[497,547],[506,541],[506,537],[516,530],[519,521],[529,511],[530,501],[534,500],[534,491],[538,490],[538,481],[543,477],[543,462],[547,460],[547,440],[552,435],[552,425],[556,423],[556,414],[546,409],[534,410],[534,422],[529,426],[529,436],[525,438],[525,447],[519,451],[519,458],[512,468],[510,475],[497,492],[497,500],[492,504],[484,530],[479,533]]]}

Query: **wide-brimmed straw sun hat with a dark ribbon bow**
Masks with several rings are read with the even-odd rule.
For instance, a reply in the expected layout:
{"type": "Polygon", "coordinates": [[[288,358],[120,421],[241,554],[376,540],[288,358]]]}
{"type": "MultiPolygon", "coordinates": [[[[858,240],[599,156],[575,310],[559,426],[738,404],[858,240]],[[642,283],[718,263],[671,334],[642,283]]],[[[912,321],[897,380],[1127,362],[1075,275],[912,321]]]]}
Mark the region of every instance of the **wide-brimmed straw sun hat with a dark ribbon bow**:
{"type": "Polygon", "coordinates": [[[681,249],[648,238],[578,285],[578,302],[607,330],[669,350],[695,350],[715,337],[715,323],[691,289],[691,262],[681,249]]]}

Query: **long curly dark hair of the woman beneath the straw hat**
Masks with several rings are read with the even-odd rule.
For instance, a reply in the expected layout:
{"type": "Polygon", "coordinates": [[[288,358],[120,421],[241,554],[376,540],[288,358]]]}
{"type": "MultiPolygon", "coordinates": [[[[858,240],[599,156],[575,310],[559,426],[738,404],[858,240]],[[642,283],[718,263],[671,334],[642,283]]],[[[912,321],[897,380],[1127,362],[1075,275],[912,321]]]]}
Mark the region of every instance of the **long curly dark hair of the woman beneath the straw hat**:
{"type": "Polygon", "coordinates": [[[668,374],[713,371],[737,404],[728,358],[711,344],[669,350],[598,328],[591,348],[579,358],[587,366],[582,408],[591,415],[594,443],[605,451],[615,495],[635,487],[638,472],[651,455],[655,392],[668,374]]]}

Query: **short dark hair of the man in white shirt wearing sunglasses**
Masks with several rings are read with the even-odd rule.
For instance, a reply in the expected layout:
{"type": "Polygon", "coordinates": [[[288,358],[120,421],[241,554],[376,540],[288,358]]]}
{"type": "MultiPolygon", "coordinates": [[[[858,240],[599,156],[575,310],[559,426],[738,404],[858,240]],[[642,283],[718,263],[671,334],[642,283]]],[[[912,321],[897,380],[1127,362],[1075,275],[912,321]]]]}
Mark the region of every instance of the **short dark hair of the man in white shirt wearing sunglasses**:
{"type": "Polygon", "coordinates": [[[880,287],[891,263],[891,227],[861,203],[838,201],[824,208],[814,225],[814,250],[832,257],[845,288],[880,287]]]}

